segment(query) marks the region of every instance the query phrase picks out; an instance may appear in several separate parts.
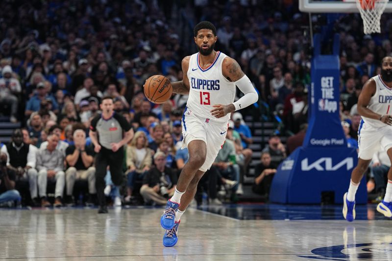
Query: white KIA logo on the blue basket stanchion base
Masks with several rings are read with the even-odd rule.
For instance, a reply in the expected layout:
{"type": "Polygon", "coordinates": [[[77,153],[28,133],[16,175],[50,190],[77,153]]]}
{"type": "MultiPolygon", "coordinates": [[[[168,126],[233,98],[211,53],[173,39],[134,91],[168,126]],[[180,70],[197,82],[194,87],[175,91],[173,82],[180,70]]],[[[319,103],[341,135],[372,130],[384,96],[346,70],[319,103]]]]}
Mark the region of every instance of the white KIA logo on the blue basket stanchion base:
{"type": "Polygon", "coordinates": [[[301,161],[302,171],[309,171],[314,168],[318,171],[336,171],[343,166],[346,166],[347,170],[351,169],[354,166],[354,159],[352,157],[345,158],[343,161],[336,163],[335,165],[332,165],[332,158],[320,158],[310,165],[308,158],[301,161]]]}

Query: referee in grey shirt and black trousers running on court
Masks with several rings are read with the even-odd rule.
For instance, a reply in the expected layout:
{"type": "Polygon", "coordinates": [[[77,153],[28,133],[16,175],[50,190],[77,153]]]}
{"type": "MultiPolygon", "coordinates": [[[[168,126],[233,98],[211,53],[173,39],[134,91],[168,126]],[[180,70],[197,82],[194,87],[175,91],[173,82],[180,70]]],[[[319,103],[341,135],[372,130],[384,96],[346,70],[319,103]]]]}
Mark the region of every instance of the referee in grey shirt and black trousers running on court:
{"type": "Polygon", "coordinates": [[[102,114],[91,120],[90,138],[97,153],[95,166],[98,213],[108,213],[103,193],[106,168],[110,168],[114,185],[120,186],[123,182],[123,145],[133,138],[134,133],[130,123],[113,110],[112,97],[103,97],[99,107],[102,114]]]}

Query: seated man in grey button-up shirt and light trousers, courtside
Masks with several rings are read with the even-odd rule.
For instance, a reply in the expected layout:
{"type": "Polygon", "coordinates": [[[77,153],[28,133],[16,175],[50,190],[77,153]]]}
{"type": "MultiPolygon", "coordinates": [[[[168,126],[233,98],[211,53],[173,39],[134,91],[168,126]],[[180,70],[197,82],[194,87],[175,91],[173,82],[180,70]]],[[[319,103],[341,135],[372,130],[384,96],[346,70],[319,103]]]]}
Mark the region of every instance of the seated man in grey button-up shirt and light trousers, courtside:
{"type": "Polygon", "coordinates": [[[38,190],[42,207],[50,206],[46,194],[48,179],[56,183],[53,206],[62,206],[61,199],[65,187],[64,152],[57,149],[58,142],[57,135],[49,134],[47,146],[37,152],[38,190]]]}

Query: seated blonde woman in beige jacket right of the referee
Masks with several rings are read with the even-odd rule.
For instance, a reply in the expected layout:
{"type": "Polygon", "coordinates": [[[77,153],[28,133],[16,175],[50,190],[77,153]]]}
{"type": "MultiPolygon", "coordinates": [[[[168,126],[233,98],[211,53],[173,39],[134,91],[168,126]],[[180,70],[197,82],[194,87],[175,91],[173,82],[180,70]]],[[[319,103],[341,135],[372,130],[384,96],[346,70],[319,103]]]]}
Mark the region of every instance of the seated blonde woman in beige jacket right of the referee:
{"type": "Polygon", "coordinates": [[[127,195],[125,202],[130,202],[136,180],[143,180],[152,165],[153,150],[148,148],[147,135],[137,131],[130,145],[126,147],[127,195]]]}

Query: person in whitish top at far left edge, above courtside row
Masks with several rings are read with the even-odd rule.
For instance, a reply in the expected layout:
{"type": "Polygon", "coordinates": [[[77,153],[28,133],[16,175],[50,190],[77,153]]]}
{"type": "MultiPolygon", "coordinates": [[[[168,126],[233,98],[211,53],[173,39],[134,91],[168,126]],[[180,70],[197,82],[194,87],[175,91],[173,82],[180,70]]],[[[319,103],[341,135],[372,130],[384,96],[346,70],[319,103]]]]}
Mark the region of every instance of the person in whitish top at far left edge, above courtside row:
{"type": "Polygon", "coordinates": [[[11,108],[10,121],[17,122],[18,114],[18,95],[22,88],[19,80],[12,76],[12,68],[9,65],[1,70],[0,79],[0,104],[7,104],[11,108]]]}

